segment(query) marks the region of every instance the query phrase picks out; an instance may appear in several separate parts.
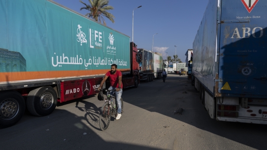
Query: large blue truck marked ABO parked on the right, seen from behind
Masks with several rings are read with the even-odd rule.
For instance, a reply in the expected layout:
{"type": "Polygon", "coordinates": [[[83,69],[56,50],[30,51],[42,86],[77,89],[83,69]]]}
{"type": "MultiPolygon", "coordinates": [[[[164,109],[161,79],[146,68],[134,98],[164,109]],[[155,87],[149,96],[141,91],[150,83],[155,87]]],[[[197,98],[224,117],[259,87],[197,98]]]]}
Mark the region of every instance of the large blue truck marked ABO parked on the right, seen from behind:
{"type": "Polygon", "coordinates": [[[193,42],[192,80],[209,116],[267,124],[267,1],[208,2],[193,42]]]}

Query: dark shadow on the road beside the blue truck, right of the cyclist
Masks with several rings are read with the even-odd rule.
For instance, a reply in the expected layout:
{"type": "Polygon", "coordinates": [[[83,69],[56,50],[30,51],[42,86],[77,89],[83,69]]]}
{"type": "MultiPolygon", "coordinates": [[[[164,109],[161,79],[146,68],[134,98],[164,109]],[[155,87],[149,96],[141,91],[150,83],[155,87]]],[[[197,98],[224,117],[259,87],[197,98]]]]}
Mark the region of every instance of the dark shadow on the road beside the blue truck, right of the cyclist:
{"type": "Polygon", "coordinates": [[[123,96],[125,102],[150,112],[183,121],[256,149],[267,147],[266,125],[211,119],[200,101],[198,91],[191,85],[191,80],[188,80],[187,76],[168,74],[165,83],[162,79],[149,83],[142,82],[138,89],[124,91],[123,96]],[[184,109],[183,115],[174,115],[174,111],[180,107],[184,109]]]}

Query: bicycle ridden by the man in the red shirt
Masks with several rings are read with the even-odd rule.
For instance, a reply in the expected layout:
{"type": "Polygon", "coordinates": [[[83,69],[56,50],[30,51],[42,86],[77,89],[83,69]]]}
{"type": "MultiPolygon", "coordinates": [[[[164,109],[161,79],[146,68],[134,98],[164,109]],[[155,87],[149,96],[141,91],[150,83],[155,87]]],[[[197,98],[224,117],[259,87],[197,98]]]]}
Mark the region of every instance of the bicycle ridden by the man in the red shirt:
{"type": "MultiPolygon", "coordinates": [[[[106,130],[109,126],[109,123],[110,123],[110,120],[111,120],[111,115],[115,115],[115,118],[117,117],[117,114],[118,114],[118,105],[117,103],[114,104],[113,106],[113,100],[112,98],[115,99],[115,102],[116,102],[116,98],[112,95],[110,95],[110,92],[112,91],[116,91],[116,90],[105,90],[105,89],[101,89],[100,90],[101,92],[105,91],[107,94],[106,94],[106,99],[105,99],[105,104],[102,106],[101,108],[101,112],[100,112],[100,115],[99,115],[99,126],[100,126],[100,129],[102,131],[106,130]]],[[[120,101],[121,101],[121,114],[123,112],[123,101],[122,101],[122,98],[120,98],[120,101]]]]}

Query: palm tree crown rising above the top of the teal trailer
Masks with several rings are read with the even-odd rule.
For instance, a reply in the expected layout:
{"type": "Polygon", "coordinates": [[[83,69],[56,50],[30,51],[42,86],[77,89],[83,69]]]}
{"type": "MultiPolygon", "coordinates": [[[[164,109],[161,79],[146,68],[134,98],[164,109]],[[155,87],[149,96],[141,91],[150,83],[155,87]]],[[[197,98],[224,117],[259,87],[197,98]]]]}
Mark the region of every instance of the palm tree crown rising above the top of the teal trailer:
{"type": "Polygon", "coordinates": [[[85,9],[88,10],[90,13],[85,14],[85,16],[89,18],[93,18],[97,22],[103,21],[103,24],[106,25],[106,22],[103,18],[103,16],[107,17],[112,23],[114,23],[114,16],[110,13],[108,13],[108,10],[113,10],[114,8],[112,6],[109,6],[109,0],[88,0],[89,5],[85,4],[80,0],[80,3],[84,4],[85,7],[80,8],[80,11],[85,9]]]}

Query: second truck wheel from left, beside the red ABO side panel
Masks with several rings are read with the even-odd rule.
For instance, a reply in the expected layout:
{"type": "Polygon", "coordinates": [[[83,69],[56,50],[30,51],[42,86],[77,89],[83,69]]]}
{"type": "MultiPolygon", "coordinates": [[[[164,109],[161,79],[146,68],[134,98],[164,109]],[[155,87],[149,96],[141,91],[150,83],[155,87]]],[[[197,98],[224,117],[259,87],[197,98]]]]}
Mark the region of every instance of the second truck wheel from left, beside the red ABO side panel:
{"type": "Polygon", "coordinates": [[[51,114],[57,106],[57,93],[52,87],[41,87],[28,94],[27,108],[34,116],[51,114]]]}

